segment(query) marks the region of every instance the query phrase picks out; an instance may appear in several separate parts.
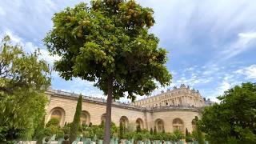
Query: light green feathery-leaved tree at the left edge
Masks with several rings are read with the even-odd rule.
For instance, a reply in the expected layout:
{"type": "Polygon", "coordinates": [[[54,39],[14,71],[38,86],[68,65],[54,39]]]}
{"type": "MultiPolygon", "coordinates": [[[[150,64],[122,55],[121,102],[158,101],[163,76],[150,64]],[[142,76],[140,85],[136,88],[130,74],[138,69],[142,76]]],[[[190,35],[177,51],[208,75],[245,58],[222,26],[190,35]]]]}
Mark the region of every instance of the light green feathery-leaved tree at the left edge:
{"type": "Polygon", "coordinates": [[[9,36],[0,50],[0,141],[31,138],[45,114],[49,66],[38,59],[38,50],[26,54],[9,36]]]}

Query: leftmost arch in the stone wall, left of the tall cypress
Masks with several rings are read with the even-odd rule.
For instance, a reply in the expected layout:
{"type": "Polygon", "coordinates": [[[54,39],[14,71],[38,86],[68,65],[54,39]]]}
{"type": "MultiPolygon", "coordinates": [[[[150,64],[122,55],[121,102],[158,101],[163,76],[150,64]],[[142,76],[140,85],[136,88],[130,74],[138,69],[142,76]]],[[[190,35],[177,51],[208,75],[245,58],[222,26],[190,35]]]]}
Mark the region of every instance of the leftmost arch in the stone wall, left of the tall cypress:
{"type": "Polygon", "coordinates": [[[65,110],[62,109],[62,107],[54,107],[52,110],[50,110],[50,117],[48,118],[48,121],[50,121],[51,118],[58,118],[59,125],[63,126],[65,122],[65,116],[66,113],[65,110]]]}

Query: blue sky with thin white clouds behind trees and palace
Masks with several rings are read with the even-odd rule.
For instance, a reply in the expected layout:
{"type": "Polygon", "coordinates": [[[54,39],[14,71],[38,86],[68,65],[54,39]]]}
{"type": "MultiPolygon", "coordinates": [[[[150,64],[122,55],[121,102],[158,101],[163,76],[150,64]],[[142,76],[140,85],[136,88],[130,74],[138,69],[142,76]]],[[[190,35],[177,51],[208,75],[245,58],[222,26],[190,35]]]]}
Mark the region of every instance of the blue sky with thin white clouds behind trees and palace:
{"type": "MultiPolygon", "coordinates": [[[[52,28],[53,14],[78,2],[63,0],[1,0],[0,34],[9,34],[28,52],[37,47],[52,65],[42,38],[52,28]]],[[[203,97],[216,101],[224,90],[242,82],[256,82],[255,0],[139,0],[154,9],[155,26],[150,32],[160,38],[173,74],[169,87],[185,83],[203,97]]],[[[92,82],[74,78],[66,82],[52,74],[52,87],[94,97],[103,97],[92,82]]],[[[153,94],[169,87],[159,87],[153,94]]],[[[140,97],[143,98],[143,97],[140,97]]],[[[122,98],[122,101],[127,101],[122,98]]]]}

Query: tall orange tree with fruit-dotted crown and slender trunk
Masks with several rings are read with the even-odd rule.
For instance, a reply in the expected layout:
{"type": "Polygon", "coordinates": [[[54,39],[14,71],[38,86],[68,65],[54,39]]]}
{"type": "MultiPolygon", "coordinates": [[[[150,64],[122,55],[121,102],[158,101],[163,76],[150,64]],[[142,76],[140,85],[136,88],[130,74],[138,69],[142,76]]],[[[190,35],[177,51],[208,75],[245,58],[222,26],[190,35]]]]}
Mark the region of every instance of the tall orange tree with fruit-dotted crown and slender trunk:
{"type": "MultiPolygon", "coordinates": [[[[95,82],[108,95],[106,130],[110,130],[112,98],[150,94],[156,82],[166,86],[165,49],[149,34],[154,11],[134,1],[97,0],[79,3],[54,14],[54,27],[44,38],[51,54],[62,58],[54,63],[62,78],[79,77],[95,82]]],[[[110,137],[110,134],[106,134],[110,137]]],[[[108,143],[108,142],[105,142],[108,143]]]]}

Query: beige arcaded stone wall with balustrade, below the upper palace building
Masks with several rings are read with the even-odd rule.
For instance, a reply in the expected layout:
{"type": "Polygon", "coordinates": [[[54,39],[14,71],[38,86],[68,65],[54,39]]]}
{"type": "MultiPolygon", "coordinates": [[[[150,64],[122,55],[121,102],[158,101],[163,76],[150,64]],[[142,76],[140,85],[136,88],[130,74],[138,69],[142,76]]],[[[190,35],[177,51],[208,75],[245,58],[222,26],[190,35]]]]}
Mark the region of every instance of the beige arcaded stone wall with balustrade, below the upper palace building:
{"type": "MultiPolygon", "coordinates": [[[[49,103],[46,106],[46,122],[51,118],[54,110],[59,110],[62,113],[61,126],[65,122],[72,122],[76,110],[77,97],[70,97],[62,94],[46,93],[48,94],[49,103]]],[[[102,115],[106,113],[106,103],[94,100],[86,100],[82,102],[82,111],[89,114],[89,121],[94,125],[100,124],[102,115]]],[[[125,117],[128,123],[136,126],[136,120],[142,120],[142,128],[150,130],[156,125],[156,120],[162,119],[164,122],[164,129],[166,132],[173,131],[174,118],[180,118],[184,125],[184,130],[187,128],[192,131],[192,120],[195,116],[199,116],[198,110],[195,108],[183,107],[167,107],[157,109],[146,109],[136,106],[122,106],[114,104],[112,106],[112,121],[118,126],[120,118],[125,117]]]]}

